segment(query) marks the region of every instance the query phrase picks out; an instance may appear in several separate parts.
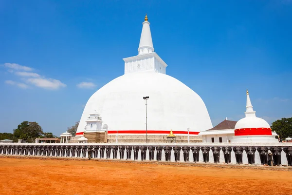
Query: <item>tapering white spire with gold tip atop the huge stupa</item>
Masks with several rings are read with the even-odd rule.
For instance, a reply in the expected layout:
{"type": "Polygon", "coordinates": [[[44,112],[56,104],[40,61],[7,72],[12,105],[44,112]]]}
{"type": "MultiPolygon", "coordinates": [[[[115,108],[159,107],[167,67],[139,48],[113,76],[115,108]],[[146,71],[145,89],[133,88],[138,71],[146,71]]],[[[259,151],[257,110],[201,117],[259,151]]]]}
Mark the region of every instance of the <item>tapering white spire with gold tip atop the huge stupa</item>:
{"type": "Polygon", "coordinates": [[[144,20],[145,21],[143,22],[140,44],[138,48],[139,55],[154,52],[151,31],[150,31],[150,23],[148,22],[147,14],[144,20]]]}

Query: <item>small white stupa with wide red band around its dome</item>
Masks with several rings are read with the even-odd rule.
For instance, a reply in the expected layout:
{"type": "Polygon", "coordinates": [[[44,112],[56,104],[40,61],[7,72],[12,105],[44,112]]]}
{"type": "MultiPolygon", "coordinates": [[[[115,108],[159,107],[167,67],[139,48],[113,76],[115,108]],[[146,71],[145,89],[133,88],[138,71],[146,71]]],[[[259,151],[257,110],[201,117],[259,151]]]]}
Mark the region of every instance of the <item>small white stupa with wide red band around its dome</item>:
{"type": "Polygon", "coordinates": [[[245,117],[237,121],[234,137],[231,139],[231,142],[279,142],[275,136],[277,136],[277,134],[272,132],[269,123],[262,118],[256,117],[256,111],[253,109],[249,92],[246,90],[245,117]]]}

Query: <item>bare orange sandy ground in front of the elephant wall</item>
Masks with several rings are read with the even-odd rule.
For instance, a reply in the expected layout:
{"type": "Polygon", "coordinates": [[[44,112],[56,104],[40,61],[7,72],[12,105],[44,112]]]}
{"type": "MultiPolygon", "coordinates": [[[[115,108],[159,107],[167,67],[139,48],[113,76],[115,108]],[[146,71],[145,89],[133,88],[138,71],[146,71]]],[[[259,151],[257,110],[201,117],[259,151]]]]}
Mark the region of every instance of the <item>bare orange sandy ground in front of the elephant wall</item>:
{"type": "Polygon", "coordinates": [[[292,172],[0,157],[1,195],[292,195],[292,172]]]}

